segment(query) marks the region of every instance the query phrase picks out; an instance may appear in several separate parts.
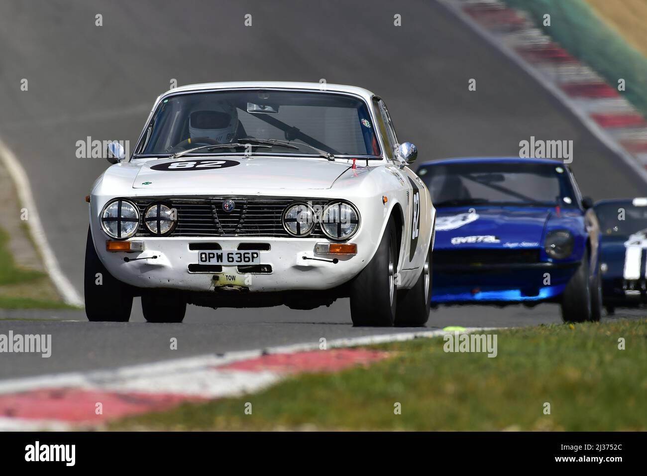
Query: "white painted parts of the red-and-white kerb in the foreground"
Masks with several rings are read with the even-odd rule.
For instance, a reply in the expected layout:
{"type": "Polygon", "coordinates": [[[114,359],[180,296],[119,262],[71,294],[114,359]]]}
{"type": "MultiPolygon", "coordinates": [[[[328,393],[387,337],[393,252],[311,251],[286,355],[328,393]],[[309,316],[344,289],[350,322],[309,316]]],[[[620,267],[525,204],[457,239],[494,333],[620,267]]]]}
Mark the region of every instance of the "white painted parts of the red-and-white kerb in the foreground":
{"type": "MultiPolygon", "coordinates": [[[[465,332],[497,330],[500,328],[465,328],[465,332]]],[[[371,345],[387,342],[409,341],[417,338],[439,337],[453,332],[430,330],[401,332],[398,334],[367,335],[334,339],[327,349],[371,345]]],[[[292,354],[294,352],[319,350],[319,343],[303,343],[265,349],[229,352],[222,355],[203,355],[131,365],[112,370],[93,372],[70,372],[32,378],[0,381],[0,394],[24,392],[47,388],[73,388],[85,391],[118,392],[129,394],[176,394],[201,398],[225,398],[261,391],[285,379],[285,372],[271,370],[235,370],[223,366],[237,361],[254,359],[268,354],[292,354]]],[[[67,422],[65,420],[31,420],[28,418],[0,417],[0,431],[82,431],[96,429],[102,424],[67,422]]]]}

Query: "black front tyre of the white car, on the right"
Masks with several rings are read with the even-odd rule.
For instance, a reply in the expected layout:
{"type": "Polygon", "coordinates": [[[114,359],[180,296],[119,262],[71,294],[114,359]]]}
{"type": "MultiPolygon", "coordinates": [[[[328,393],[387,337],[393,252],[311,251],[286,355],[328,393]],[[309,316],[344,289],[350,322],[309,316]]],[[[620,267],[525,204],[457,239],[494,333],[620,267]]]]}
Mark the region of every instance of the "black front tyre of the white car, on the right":
{"type": "Polygon", "coordinates": [[[351,319],[355,326],[393,326],[397,308],[397,236],[389,218],[375,256],[351,285],[351,319]]]}

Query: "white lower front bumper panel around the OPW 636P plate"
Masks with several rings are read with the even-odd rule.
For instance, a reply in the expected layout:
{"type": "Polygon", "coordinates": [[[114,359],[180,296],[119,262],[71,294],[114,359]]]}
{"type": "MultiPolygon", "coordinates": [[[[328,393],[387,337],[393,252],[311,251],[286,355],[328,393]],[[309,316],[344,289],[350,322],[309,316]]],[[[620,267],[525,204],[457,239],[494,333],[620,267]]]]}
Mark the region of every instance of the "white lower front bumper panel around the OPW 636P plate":
{"type": "MultiPolygon", "coordinates": [[[[336,288],[351,280],[369,262],[372,250],[358,244],[357,255],[319,255],[314,247],[325,242],[321,238],[132,238],[144,242],[144,251],[136,253],[105,251],[105,238],[96,238],[95,247],[106,269],[118,280],[138,288],[175,288],[187,291],[219,291],[237,288],[252,292],[287,291],[294,289],[322,290],[336,288]],[[260,252],[263,272],[237,266],[223,266],[221,271],[190,271],[198,264],[197,249],[217,244],[224,251],[237,250],[244,244],[269,245],[260,252]],[[152,258],[157,256],[156,258],[152,258]],[[303,258],[325,258],[337,262],[303,258]],[[129,260],[126,262],[124,258],[129,260]],[[133,258],[147,258],[137,259],[133,258]],[[271,267],[268,273],[267,269],[271,267]]],[[[260,247],[259,247],[260,248],[260,247]]],[[[214,249],[217,249],[214,245],[214,249]]],[[[195,268],[194,268],[195,269],[195,268]]],[[[261,271],[261,269],[256,269],[261,271]]]]}

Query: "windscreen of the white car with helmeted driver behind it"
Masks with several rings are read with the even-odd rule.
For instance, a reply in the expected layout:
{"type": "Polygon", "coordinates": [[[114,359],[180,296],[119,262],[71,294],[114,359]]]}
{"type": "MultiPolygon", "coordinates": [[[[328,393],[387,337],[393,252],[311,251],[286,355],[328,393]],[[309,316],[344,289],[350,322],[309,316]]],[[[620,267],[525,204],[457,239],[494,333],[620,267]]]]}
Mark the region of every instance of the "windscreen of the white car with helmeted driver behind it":
{"type": "Polygon", "coordinates": [[[360,98],[261,89],[186,93],[164,99],[136,153],[170,154],[243,139],[294,141],[298,147],[276,145],[270,153],[316,154],[300,146],[307,144],[334,155],[380,155],[373,121],[360,98]]]}

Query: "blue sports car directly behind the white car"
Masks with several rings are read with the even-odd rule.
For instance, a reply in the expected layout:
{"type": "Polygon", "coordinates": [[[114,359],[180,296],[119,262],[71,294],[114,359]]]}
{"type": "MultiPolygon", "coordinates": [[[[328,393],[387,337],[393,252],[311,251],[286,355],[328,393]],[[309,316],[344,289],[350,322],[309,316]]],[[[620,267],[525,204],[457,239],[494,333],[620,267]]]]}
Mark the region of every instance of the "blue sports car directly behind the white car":
{"type": "Polygon", "coordinates": [[[599,227],[560,161],[446,159],[417,170],[437,210],[433,304],[559,302],[600,319],[599,227]]]}

